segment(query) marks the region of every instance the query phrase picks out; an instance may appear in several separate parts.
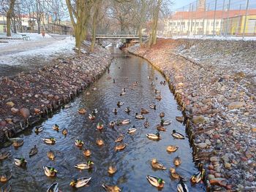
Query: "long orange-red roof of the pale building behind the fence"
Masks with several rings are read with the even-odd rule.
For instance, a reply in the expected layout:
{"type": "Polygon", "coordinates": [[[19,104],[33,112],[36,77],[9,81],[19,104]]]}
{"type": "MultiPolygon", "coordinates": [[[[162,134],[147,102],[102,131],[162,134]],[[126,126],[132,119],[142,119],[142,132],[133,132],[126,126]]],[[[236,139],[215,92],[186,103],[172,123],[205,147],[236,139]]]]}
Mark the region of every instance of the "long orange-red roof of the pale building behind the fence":
{"type": "MultiPolygon", "coordinates": [[[[174,15],[170,15],[170,19],[173,20],[181,20],[181,19],[202,19],[202,18],[208,18],[208,19],[214,19],[214,14],[216,19],[221,18],[233,18],[238,15],[245,15],[246,10],[230,10],[227,15],[227,11],[222,12],[222,10],[214,11],[203,11],[203,10],[197,10],[195,12],[175,12],[174,15]]],[[[256,15],[256,9],[249,9],[247,10],[247,15],[256,15]]]]}

